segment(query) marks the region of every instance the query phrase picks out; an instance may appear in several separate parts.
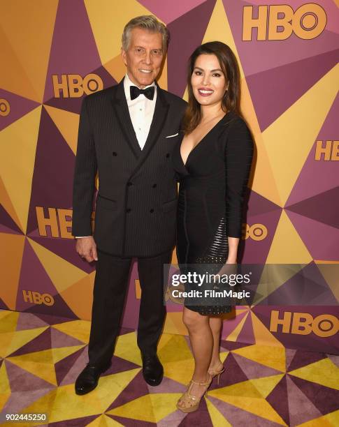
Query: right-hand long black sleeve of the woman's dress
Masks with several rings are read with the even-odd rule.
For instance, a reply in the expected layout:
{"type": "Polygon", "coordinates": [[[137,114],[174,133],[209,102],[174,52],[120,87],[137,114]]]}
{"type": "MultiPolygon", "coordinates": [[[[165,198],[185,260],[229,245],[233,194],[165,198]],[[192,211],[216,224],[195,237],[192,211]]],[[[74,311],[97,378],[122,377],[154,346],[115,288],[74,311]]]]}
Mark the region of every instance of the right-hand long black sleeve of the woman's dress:
{"type": "Polygon", "coordinates": [[[243,200],[252,165],[254,143],[243,119],[231,123],[226,140],[226,234],[241,237],[243,200]]]}

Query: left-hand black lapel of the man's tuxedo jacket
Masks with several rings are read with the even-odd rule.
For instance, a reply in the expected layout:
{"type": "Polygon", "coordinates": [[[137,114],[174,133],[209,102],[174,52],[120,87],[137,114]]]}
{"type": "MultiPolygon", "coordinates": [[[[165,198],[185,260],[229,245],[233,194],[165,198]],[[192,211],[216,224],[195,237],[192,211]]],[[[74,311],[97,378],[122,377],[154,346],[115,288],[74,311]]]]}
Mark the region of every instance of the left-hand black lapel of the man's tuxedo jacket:
{"type": "Polygon", "coordinates": [[[139,158],[141,149],[136,138],[136,133],[134,132],[131,116],[129,115],[129,107],[124,94],[124,79],[122,79],[122,81],[117,85],[115,96],[113,96],[111,101],[122,133],[124,133],[124,137],[126,138],[134,156],[139,158]]]}

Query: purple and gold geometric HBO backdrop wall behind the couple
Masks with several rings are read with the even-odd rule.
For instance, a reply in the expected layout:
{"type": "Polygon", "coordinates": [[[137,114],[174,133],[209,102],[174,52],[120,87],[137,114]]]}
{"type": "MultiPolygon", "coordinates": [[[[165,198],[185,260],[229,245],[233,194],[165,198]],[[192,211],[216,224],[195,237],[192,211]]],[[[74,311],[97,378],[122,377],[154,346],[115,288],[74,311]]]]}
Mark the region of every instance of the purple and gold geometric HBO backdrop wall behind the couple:
{"type": "MultiPolygon", "coordinates": [[[[338,278],[322,268],[339,263],[338,0],[118,3],[0,3],[0,308],[90,319],[94,266],[75,253],[71,236],[80,103],[122,79],[122,29],[143,14],[171,32],[159,85],[178,96],[187,99],[187,59],[197,45],[221,40],[238,57],[256,143],[242,262],[305,264],[338,299],[338,278]]],[[[134,264],[124,327],[136,327],[138,299],[134,264]]],[[[306,313],[311,326],[322,316],[319,328],[333,331],[327,337],[315,327],[275,331],[272,310],[237,307],[223,338],[339,354],[336,306],[278,308],[280,318],[306,313]]],[[[187,334],[171,301],[165,332],[187,334]]]]}

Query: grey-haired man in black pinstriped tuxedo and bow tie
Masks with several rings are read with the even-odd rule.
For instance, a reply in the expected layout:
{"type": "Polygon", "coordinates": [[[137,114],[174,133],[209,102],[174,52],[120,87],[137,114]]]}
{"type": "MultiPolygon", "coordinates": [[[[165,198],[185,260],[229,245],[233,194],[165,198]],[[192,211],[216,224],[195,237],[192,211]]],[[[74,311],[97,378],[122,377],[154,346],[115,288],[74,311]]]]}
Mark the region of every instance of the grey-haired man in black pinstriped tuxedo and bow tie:
{"type": "Polygon", "coordinates": [[[89,363],[75,382],[76,394],[93,390],[111,365],[134,257],[142,290],[137,342],[143,377],[155,386],[164,375],[157,342],[166,315],[164,264],[171,262],[175,245],[177,186],[171,153],[186,107],[155,81],[167,45],[164,24],[152,15],[134,18],[122,34],[124,79],[82,101],[72,234],[79,255],[96,260],[96,276],[89,363]]]}

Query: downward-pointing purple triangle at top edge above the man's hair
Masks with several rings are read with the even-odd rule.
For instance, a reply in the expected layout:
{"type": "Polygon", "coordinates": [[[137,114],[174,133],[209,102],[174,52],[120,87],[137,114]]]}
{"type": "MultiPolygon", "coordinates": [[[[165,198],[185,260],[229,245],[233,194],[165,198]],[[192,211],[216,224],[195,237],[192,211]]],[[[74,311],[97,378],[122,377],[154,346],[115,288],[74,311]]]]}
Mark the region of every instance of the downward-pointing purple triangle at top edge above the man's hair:
{"type": "Polygon", "coordinates": [[[166,25],[204,2],[205,0],[185,0],[173,4],[172,0],[138,0],[138,3],[145,6],[153,15],[157,16],[162,22],[165,22],[166,25]]]}

